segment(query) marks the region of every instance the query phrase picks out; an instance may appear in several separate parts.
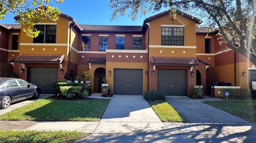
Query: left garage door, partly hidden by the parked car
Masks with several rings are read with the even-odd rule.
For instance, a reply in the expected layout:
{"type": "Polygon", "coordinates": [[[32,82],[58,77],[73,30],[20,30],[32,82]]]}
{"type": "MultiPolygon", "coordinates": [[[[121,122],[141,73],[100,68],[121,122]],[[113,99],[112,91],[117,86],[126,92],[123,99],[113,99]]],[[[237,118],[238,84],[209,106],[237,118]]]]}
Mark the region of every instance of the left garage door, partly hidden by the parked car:
{"type": "Polygon", "coordinates": [[[52,86],[54,81],[58,80],[57,67],[29,67],[29,82],[42,88],[43,94],[54,94],[52,86]]]}

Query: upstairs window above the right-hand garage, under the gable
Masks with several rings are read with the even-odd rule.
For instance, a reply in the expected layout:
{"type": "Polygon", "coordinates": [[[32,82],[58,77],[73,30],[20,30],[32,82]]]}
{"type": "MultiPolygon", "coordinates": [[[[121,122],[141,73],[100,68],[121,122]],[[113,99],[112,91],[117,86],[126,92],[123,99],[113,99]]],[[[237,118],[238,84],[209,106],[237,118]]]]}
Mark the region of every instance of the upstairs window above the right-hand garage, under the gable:
{"type": "Polygon", "coordinates": [[[161,27],[162,45],[184,45],[183,27],[161,27]]]}

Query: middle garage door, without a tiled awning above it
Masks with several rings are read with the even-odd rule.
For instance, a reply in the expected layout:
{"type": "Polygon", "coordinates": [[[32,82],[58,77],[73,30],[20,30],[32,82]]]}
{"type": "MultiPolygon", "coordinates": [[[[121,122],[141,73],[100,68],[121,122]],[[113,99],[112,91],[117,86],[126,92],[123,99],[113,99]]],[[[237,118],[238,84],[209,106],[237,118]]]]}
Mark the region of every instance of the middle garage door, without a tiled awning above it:
{"type": "Polygon", "coordinates": [[[114,94],[142,95],[142,70],[115,69],[114,94]]]}

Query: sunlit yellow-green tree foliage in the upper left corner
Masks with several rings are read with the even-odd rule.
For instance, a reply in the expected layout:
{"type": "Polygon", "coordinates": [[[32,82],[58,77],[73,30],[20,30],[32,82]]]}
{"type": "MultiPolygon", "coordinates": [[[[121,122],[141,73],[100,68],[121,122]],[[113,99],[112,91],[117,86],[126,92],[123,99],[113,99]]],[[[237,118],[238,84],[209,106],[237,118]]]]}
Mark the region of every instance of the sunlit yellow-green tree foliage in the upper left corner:
{"type": "MultiPolygon", "coordinates": [[[[62,3],[63,0],[54,0],[56,3],[62,3]]],[[[23,31],[29,37],[37,37],[40,31],[34,30],[35,23],[42,20],[57,21],[60,10],[50,4],[50,0],[1,0],[0,1],[0,20],[5,18],[7,13],[13,13],[16,22],[26,24],[23,31]]]]}

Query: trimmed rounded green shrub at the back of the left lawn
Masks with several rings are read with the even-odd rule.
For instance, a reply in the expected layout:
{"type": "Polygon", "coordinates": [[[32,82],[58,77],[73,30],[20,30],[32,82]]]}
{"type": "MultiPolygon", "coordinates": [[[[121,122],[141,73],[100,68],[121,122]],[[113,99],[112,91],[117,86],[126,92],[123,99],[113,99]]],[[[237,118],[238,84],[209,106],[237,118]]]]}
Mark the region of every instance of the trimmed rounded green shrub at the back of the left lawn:
{"type": "Polygon", "coordinates": [[[60,87],[60,95],[68,99],[80,97],[82,94],[82,87],[63,86],[60,87]]]}

